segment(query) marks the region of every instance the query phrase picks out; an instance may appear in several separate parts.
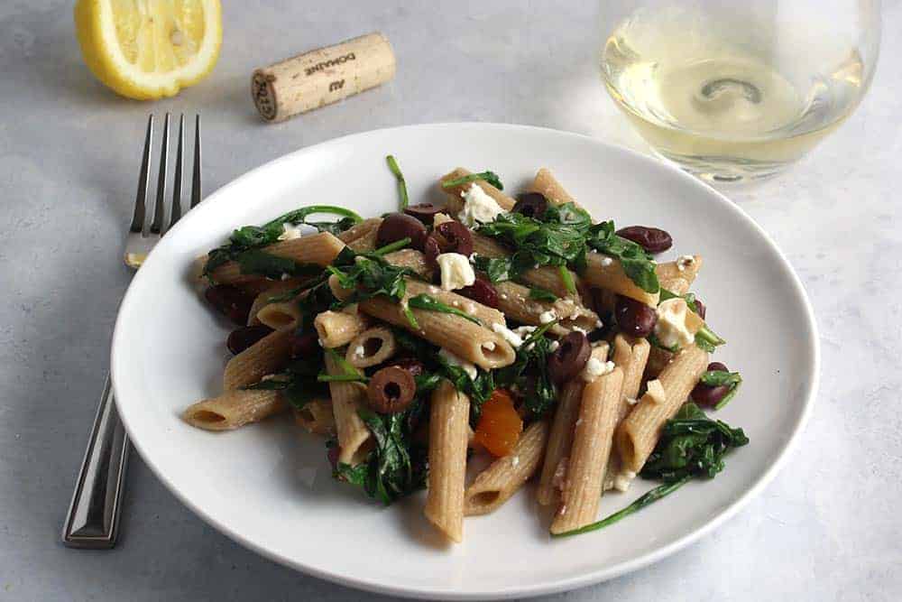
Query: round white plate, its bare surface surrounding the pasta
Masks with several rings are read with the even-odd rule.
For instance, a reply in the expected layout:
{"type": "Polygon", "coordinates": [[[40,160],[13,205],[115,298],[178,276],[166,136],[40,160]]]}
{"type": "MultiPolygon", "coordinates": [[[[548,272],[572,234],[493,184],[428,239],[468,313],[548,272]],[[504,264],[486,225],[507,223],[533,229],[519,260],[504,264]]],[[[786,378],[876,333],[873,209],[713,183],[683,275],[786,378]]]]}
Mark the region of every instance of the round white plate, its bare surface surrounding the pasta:
{"type": "MultiPolygon", "coordinates": [[[[192,210],[137,273],[116,322],[115,397],[153,472],[208,523],[254,551],[345,585],[402,596],[484,599],[578,588],[659,560],[723,523],[776,472],[815,398],[818,348],[805,292],[770,238],[741,209],[660,162],[576,134],[517,125],[415,125],[340,138],[247,173],[192,210]],[[410,498],[383,508],[332,480],[322,440],[289,420],[226,434],[179,420],[220,392],[226,324],[188,282],[197,255],[233,227],[290,208],[345,205],[364,216],[397,206],[384,157],[398,157],[414,202],[463,165],[491,169],[520,190],[547,166],[596,218],[666,228],[675,252],[704,255],[695,290],[729,345],[716,355],[741,370],[738,397],[717,417],[749,446],[708,483],[599,533],[552,541],[520,492],[492,515],[470,518],[465,542],[437,542],[410,498]]],[[[602,514],[648,486],[605,495],[602,514]]]]}

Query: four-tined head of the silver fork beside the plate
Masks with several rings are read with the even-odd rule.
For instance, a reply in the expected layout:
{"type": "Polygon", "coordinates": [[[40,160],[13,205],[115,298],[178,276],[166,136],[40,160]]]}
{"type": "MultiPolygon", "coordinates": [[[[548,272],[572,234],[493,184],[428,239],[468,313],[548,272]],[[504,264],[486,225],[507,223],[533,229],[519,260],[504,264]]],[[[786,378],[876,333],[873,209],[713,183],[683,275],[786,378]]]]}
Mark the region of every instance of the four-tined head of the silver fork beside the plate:
{"type": "MultiPolygon", "coordinates": [[[[179,142],[175,155],[175,181],[172,184],[172,208],[170,210],[169,226],[166,224],[166,176],[169,167],[169,140],[170,140],[170,114],[163,119],[162,149],[160,152],[160,171],[157,175],[157,196],[153,207],[153,221],[150,228],[144,230],[146,215],[145,203],[147,188],[150,184],[151,148],[153,145],[153,115],[147,119],[147,134],[144,137],[144,152],[141,159],[141,172],[138,175],[138,193],[134,199],[134,215],[129,231],[133,234],[142,233],[143,236],[159,237],[172,227],[181,218],[181,184],[184,164],[185,147],[185,115],[179,116],[179,142]]],[[[195,118],[194,132],[194,169],[191,180],[191,204],[194,208],[200,202],[200,116],[195,118]]]]}

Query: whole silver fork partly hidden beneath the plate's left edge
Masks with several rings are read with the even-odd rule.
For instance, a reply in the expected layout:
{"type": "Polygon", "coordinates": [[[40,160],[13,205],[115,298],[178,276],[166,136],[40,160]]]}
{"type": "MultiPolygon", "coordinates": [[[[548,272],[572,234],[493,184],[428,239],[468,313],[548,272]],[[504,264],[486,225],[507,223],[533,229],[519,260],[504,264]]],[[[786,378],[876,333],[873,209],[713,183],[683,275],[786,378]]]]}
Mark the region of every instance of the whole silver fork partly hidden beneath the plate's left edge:
{"type": "MultiPolygon", "coordinates": [[[[160,172],[157,177],[157,198],[153,221],[145,229],[144,215],[147,185],[150,182],[151,147],[153,144],[153,116],[147,120],[138,194],[134,199],[134,216],[125,242],[125,264],[137,270],[144,258],[181,218],[181,180],[185,146],[185,116],[179,118],[179,144],[176,149],[175,182],[172,190],[172,210],[169,227],[166,222],[166,173],[169,153],[170,114],[163,122],[160,172]]],[[[200,116],[195,120],[194,171],[191,178],[191,208],[200,202],[200,116]]],[[[104,392],[100,396],[97,416],[87,440],[85,458],[78,470],[75,492],[62,528],[62,542],[70,548],[109,549],[115,546],[119,533],[119,514],[122,509],[125,465],[128,459],[128,436],[115,411],[110,378],[106,375],[104,392]]]]}

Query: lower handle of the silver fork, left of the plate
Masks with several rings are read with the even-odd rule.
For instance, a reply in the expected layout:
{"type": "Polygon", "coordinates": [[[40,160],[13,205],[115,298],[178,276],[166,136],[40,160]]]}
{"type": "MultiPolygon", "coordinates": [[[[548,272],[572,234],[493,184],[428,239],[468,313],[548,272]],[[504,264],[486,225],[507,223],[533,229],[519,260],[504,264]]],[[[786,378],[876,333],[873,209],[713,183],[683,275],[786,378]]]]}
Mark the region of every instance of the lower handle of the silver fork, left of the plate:
{"type": "Polygon", "coordinates": [[[65,545],[94,550],[115,546],[128,448],[128,436],[115,411],[110,377],[106,375],[104,393],[63,525],[65,545]]]}

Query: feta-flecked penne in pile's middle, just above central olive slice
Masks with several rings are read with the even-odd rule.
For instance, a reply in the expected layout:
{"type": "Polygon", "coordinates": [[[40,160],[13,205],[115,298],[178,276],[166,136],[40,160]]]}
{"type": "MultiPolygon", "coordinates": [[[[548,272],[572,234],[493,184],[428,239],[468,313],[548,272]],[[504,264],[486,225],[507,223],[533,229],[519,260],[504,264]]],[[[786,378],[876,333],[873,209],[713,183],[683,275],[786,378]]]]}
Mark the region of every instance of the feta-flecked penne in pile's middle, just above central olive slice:
{"type": "Polygon", "coordinates": [[[498,309],[511,320],[530,326],[542,325],[542,314],[552,312],[560,321],[548,329],[552,335],[563,336],[573,329],[589,331],[597,328],[598,315],[582,303],[572,299],[537,301],[529,299],[529,287],[518,282],[496,282],[498,309]]]}

